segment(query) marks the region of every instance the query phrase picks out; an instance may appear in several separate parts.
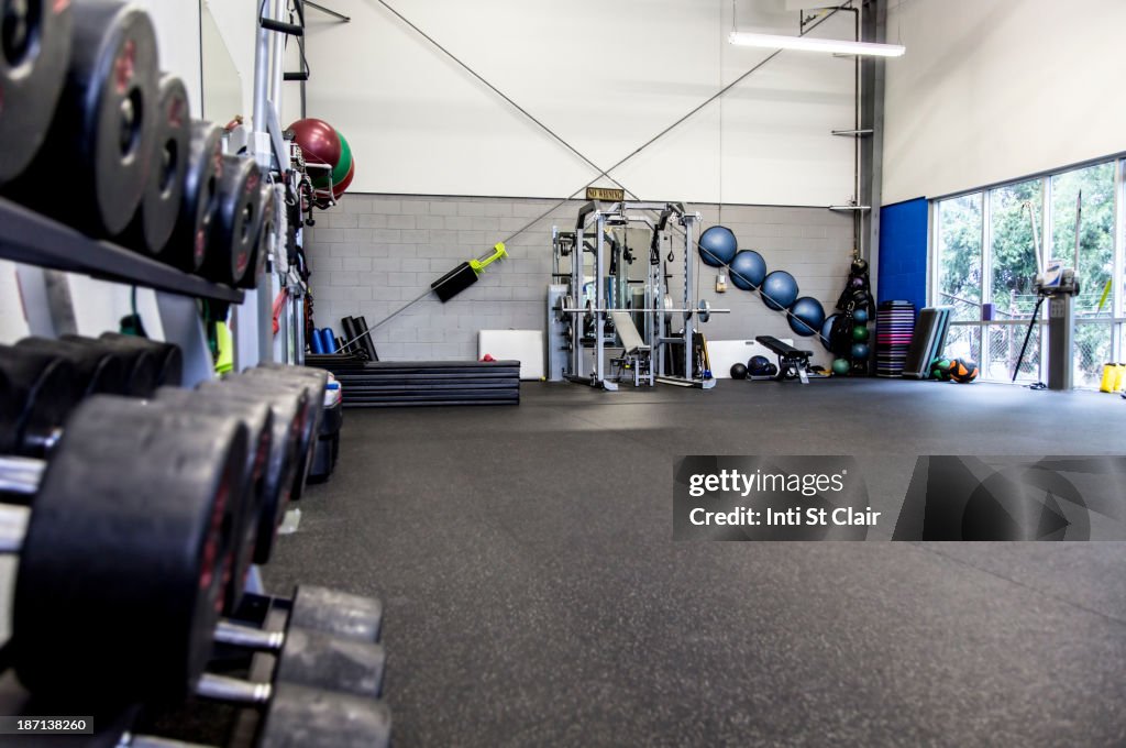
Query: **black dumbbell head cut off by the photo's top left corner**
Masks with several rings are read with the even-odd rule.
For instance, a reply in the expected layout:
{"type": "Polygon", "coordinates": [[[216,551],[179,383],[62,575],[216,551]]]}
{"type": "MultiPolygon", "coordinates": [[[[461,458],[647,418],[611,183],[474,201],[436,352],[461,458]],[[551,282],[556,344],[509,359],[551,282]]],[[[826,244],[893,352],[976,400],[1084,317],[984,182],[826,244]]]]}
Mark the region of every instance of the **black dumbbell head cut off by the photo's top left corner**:
{"type": "Polygon", "coordinates": [[[70,2],[5,0],[0,21],[0,185],[32,162],[51,127],[71,55],[70,2]]]}

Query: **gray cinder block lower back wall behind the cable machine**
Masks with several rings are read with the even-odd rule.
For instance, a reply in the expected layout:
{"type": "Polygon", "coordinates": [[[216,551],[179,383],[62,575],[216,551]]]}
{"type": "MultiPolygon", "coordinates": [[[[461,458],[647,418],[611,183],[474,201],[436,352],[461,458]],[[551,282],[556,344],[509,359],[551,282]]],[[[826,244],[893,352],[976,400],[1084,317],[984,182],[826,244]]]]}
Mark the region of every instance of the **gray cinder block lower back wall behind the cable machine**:
{"type": "MultiPolygon", "coordinates": [[[[534,198],[444,197],[418,195],[346,195],[337,207],[319,214],[306,230],[305,252],[313,271],[318,327],[340,333],[340,318],[363,314],[375,324],[429,288],[458,262],[488,252],[558,201],[534,198]]],[[[510,257],[492,265],[476,284],[443,304],[429,295],[379,328],[379,357],[387,360],[472,359],[482,329],[544,329],[546,288],[552,271],[551,229],[574,226],[580,201],[572,201],[507,241],[510,257]]],[[[802,295],[814,296],[832,313],[848,276],[852,250],[851,216],[824,208],[694,203],[701,226],[723,223],[741,249],[762,255],[769,270],[787,270],[802,295]]],[[[645,261],[647,248],[640,248],[645,261]]],[[[683,258],[670,266],[680,274],[683,258]]],[[[694,257],[699,299],[732,309],[704,327],[709,340],[748,339],[757,335],[793,337],[783,314],[758,294],[730,282],[715,292],[716,269],[694,257]]],[[[673,282],[679,303],[680,286],[673,282]]],[[[825,363],[815,339],[807,347],[825,363]]]]}

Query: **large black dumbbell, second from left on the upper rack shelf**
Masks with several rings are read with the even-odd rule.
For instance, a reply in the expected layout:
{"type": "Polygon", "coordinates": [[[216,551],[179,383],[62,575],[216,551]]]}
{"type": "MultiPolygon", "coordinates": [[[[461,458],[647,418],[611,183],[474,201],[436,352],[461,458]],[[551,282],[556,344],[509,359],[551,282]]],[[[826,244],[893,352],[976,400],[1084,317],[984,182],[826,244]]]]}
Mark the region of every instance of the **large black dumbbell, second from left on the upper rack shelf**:
{"type": "Polygon", "coordinates": [[[136,6],[82,0],[71,15],[66,82],[46,144],[10,192],[87,233],[116,237],[149,180],[157,36],[136,6]]]}

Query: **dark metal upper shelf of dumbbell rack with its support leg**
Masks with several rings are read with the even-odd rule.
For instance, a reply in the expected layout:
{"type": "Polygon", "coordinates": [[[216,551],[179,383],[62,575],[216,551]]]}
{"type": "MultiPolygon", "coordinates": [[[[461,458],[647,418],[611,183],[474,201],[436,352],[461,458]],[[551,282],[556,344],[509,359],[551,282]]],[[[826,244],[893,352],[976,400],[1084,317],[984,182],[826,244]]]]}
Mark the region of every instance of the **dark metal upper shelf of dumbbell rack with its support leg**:
{"type": "MultiPolygon", "coordinates": [[[[157,291],[164,337],[184,350],[186,384],[211,379],[214,364],[195,299],[241,304],[242,291],[211,283],[107,241],[98,241],[0,197],[0,258],[157,291]]],[[[50,302],[25,297],[29,321],[51,318],[50,302]]],[[[34,331],[34,330],[33,330],[34,331]]]]}

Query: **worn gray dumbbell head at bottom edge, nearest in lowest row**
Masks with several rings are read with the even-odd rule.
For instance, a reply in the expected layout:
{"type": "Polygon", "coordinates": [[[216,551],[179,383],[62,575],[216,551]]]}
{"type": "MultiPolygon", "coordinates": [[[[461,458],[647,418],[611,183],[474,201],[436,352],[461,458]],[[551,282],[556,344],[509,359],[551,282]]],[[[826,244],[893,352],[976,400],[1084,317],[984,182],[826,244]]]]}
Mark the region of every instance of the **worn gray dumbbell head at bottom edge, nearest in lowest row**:
{"type": "Polygon", "coordinates": [[[361,696],[277,684],[258,732],[259,748],[387,748],[391,710],[361,696]]]}

